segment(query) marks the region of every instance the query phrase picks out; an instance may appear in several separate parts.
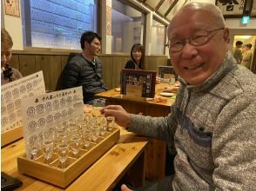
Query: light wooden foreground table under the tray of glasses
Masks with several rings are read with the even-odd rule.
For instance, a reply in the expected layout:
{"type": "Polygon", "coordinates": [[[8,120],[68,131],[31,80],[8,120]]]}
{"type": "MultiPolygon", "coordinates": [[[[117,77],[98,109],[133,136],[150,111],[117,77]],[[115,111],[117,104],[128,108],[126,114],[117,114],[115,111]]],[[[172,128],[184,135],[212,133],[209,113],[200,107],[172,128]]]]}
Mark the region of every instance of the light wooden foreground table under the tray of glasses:
{"type": "MultiPolygon", "coordinates": [[[[122,128],[118,143],[66,190],[111,190],[124,175],[128,175],[136,187],[141,187],[144,183],[147,142],[145,137],[134,135],[122,128]]],[[[18,174],[17,156],[24,154],[24,139],[2,148],[1,154],[1,170],[24,183],[18,190],[63,190],[47,182],[18,174]]]]}

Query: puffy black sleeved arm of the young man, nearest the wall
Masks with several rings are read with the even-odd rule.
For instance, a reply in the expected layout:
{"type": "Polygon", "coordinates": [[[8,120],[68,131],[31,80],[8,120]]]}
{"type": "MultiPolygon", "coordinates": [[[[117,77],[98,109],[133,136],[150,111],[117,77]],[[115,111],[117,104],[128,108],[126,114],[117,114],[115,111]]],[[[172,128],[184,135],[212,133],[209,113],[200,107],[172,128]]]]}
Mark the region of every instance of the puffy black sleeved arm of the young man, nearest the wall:
{"type": "Polygon", "coordinates": [[[67,63],[62,74],[62,89],[69,89],[77,87],[77,79],[81,69],[76,61],[70,61],[67,63]]]}

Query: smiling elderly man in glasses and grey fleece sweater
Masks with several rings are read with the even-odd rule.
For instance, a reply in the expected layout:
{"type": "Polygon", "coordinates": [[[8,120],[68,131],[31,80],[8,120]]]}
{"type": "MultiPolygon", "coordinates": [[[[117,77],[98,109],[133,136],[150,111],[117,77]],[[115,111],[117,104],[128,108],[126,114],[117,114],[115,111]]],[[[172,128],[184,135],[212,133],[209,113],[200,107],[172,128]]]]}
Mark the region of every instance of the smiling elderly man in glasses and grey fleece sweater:
{"type": "Polygon", "coordinates": [[[171,142],[177,150],[175,175],[138,190],[256,188],[256,76],[236,64],[228,37],[214,4],[186,4],[168,28],[181,82],[171,113],[150,117],[128,114],[121,106],[103,109],[129,131],[171,142]]]}

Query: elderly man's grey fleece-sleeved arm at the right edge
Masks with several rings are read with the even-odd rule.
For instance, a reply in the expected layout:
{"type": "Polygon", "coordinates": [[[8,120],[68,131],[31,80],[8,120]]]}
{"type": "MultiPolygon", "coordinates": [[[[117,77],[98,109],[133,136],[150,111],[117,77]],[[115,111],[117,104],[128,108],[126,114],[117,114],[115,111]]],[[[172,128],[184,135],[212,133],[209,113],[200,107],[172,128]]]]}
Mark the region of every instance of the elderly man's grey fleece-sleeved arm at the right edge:
{"type": "Polygon", "coordinates": [[[216,190],[256,188],[256,94],[249,96],[236,97],[219,114],[212,136],[216,190]]]}

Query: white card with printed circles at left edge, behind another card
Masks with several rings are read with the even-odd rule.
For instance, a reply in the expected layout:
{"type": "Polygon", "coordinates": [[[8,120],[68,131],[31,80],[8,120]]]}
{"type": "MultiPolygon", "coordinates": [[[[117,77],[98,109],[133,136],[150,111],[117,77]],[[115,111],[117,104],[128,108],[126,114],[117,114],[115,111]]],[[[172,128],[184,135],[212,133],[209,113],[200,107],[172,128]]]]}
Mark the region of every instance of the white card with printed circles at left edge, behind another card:
{"type": "Polygon", "coordinates": [[[21,100],[45,93],[43,72],[39,71],[1,86],[1,132],[22,126],[21,100]]]}

